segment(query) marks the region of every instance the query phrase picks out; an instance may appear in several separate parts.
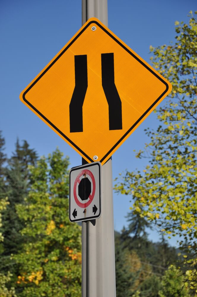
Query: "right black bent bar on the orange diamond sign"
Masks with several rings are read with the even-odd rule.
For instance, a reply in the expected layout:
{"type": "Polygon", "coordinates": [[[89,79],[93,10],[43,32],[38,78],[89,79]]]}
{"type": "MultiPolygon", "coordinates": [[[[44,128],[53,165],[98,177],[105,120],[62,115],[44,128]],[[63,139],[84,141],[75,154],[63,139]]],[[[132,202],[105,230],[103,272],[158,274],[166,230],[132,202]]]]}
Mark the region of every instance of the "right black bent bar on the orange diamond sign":
{"type": "Polygon", "coordinates": [[[114,53],[101,54],[102,87],[109,105],[109,130],[121,130],[122,102],[114,82],[114,53]]]}

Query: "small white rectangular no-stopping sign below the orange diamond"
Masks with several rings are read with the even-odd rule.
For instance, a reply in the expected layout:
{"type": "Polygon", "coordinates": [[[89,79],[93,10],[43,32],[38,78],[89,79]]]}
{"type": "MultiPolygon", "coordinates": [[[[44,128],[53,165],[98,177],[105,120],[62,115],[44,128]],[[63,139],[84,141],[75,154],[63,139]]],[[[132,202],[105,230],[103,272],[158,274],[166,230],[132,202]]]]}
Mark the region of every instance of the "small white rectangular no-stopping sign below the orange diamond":
{"type": "Polygon", "coordinates": [[[69,219],[71,222],[101,216],[101,163],[74,167],[69,175],[69,219]]]}

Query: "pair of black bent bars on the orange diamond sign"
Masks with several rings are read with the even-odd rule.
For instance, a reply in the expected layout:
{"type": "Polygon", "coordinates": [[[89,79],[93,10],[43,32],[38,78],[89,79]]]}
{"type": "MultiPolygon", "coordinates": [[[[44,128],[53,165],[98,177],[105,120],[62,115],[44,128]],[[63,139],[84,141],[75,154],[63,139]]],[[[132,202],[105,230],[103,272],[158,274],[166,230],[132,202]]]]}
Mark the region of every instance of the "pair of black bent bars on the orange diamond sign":
{"type": "MultiPolygon", "coordinates": [[[[69,105],[70,132],[83,132],[83,102],[88,88],[87,55],[74,56],[75,87],[69,105]]],[[[114,53],[101,54],[102,87],[109,106],[109,130],[122,129],[122,102],[114,81],[114,53]]]]}

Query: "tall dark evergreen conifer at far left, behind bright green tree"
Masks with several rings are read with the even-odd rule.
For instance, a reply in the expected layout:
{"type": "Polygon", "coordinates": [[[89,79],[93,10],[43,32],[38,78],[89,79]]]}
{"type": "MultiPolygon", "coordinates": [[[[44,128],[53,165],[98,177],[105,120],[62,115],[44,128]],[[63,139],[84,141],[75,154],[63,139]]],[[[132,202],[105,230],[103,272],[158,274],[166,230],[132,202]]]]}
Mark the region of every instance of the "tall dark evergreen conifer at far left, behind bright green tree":
{"type": "Polygon", "coordinates": [[[30,184],[28,166],[35,164],[36,159],[36,152],[34,149],[29,148],[26,140],[20,145],[17,139],[15,152],[8,159],[7,167],[4,168],[4,181],[9,204],[2,213],[3,225],[1,232],[3,233],[4,241],[0,271],[10,271],[13,275],[13,282],[15,282],[15,277],[18,274],[18,266],[15,264],[15,261],[10,260],[10,255],[18,252],[23,241],[23,237],[19,233],[23,228],[23,222],[16,213],[16,205],[23,203],[28,193],[30,184]]]}

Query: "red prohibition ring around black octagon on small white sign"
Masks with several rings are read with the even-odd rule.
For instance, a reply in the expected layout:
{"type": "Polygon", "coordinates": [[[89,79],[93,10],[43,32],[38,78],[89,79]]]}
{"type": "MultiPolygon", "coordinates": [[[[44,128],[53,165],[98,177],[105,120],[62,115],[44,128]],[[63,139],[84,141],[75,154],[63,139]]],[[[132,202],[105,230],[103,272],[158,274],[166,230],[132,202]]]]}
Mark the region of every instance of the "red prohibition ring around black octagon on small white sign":
{"type": "Polygon", "coordinates": [[[77,177],[76,177],[76,179],[75,179],[75,181],[74,181],[73,194],[74,194],[74,200],[75,200],[75,202],[77,203],[77,205],[78,205],[79,207],[81,207],[81,208],[85,208],[85,207],[89,206],[90,203],[92,202],[93,198],[94,198],[95,190],[96,190],[96,183],[95,183],[95,178],[94,178],[92,172],[91,172],[90,170],[88,170],[88,169],[84,169],[84,170],[82,170],[82,171],[77,175],[77,177]],[[77,198],[77,184],[80,183],[80,181],[81,181],[80,177],[83,176],[83,175],[85,175],[85,173],[86,173],[87,175],[89,175],[90,178],[91,178],[91,180],[92,180],[93,190],[92,190],[92,194],[90,194],[90,196],[88,197],[90,200],[88,200],[88,202],[86,202],[86,203],[81,203],[81,202],[78,200],[78,198],[77,198]]]}

